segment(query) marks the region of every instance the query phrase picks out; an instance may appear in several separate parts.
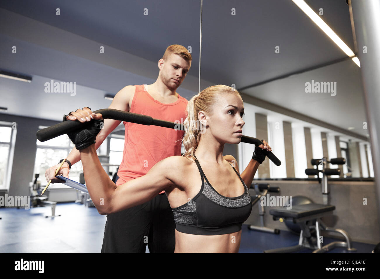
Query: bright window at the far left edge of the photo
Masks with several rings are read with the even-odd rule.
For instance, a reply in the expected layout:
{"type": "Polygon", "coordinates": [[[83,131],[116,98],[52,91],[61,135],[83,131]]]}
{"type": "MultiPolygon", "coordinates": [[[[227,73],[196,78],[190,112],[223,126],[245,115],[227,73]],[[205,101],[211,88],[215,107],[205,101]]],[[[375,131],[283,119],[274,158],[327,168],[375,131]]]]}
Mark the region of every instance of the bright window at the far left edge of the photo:
{"type": "Polygon", "coordinates": [[[0,121],[0,189],[8,189],[12,171],[16,123],[0,121]]]}

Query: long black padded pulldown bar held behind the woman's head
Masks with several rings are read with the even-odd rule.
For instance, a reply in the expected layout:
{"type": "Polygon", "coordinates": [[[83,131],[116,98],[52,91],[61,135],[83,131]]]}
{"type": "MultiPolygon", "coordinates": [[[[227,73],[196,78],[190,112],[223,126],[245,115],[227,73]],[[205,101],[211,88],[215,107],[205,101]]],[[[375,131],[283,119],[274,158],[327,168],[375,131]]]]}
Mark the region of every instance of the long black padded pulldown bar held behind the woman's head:
{"type": "MultiPolygon", "coordinates": [[[[184,130],[183,124],[174,123],[165,120],[159,120],[152,118],[148,115],[142,115],[133,112],[125,112],[123,110],[117,109],[99,109],[94,111],[94,113],[101,113],[103,119],[114,119],[125,122],[137,123],[141,125],[155,125],[165,128],[171,128],[176,130],[184,130]]],[[[55,124],[51,127],[44,128],[37,131],[37,139],[41,142],[44,142],[49,139],[53,139],[54,137],[61,136],[63,134],[67,134],[70,131],[74,131],[76,129],[80,129],[82,125],[86,125],[87,122],[79,122],[79,121],[63,121],[61,123],[55,124]]],[[[261,145],[264,143],[261,140],[256,139],[254,137],[242,136],[241,142],[252,143],[255,145],[261,145]]],[[[265,155],[272,161],[276,166],[281,165],[281,161],[272,153],[272,151],[263,150],[265,155]]]]}

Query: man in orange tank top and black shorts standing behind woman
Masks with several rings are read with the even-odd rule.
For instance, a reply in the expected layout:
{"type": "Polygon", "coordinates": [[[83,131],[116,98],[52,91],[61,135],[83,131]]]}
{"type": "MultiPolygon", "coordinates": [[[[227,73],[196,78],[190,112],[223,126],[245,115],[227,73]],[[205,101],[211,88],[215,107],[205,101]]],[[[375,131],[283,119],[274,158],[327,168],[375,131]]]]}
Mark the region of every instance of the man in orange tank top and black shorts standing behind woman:
{"type": "MultiPolygon", "coordinates": [[[[184,46],[169,46],[158,61],[160,72],[150,85],[126,86],[114,97],[109,109],[119,109],[149,115],[171,122],[186,118],[187,100],[176,89],[185,79],[191,66],[191,54],[184,46]]],[[[91,109],[84,107],[71,112],[66,119],[80,122],[90,121],[91,109]]],[[[105,119],[103,129],[96,137],[98,148],[120,121],[105,119]]],[[[125,142],[123,159],[117,175],[116,185],[145,175],[157,162],[169,156],[181,155],[183,131],[158,126],[146,126],[123,122],[125,142]]],[[[70,154],[57,175],[68,177],[71,164],[80,160],[76,148],[70,154]]],[[[63,161],[63,159],[61,160],[63,161]]],[[[59,164],[45,172],[46,180],[60,182],[55,178],[59,164]]],[[[101,252],[174,252],[175,223],[173,211],[164,192],[153,200],[127,210],[107,215],[101,252]]]]}

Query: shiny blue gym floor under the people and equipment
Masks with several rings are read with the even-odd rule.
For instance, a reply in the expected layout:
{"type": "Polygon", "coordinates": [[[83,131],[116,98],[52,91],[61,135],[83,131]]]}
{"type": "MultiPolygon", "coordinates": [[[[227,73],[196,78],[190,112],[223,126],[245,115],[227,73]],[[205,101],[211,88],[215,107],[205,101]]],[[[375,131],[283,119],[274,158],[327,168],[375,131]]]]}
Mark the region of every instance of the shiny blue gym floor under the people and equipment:
{"type": "MultiPolygon", "coordinates": [[[[0,252],[1,253],[100,253],[107,217],[100,215],[95,207],[77,203],[59,203],[55,218],[48,207],[0,208],[0,252]]],[[[261,253],[263,250],[293,246],[299,236],[281,231],[279,235],[249,230],[243,224],[240,253],[261,253]]],[[[336,241],[325,238],[324,244],[336,241]]],[[[375,245],[353,242],[356,252],[370,253],[375,245]]],[[[309,249],[301,253],[312,252],[309,249]]],[[[337,247],[330,253],[349,253],[337,247]]]]}

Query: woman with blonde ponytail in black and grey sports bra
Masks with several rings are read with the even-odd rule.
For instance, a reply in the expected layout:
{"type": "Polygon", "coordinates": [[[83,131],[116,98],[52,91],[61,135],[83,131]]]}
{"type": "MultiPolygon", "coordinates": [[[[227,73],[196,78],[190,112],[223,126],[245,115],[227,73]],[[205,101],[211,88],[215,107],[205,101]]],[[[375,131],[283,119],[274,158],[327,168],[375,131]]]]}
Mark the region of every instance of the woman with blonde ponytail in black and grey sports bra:
{"type": "Polygon", "coordinates": [[[243,115],[244,103],[234,88],[214,85],[204,89],[187,104],[184,155],[165,158],[146,175],[117,187],[102,174],[105,171],[97,164],[94,145],[83,149],[90,196],[104,200],[103,205],[94,203],[98,212],[118,212],[164,190],[176,222],[174,252],[238,252],[242,223],[252,210],[247,185],[265,159],[263,149],[272,150],[266,141],[256,146],[241,175],[236,159],[223,156],[225,143],[241,142],[243,115]]]}

